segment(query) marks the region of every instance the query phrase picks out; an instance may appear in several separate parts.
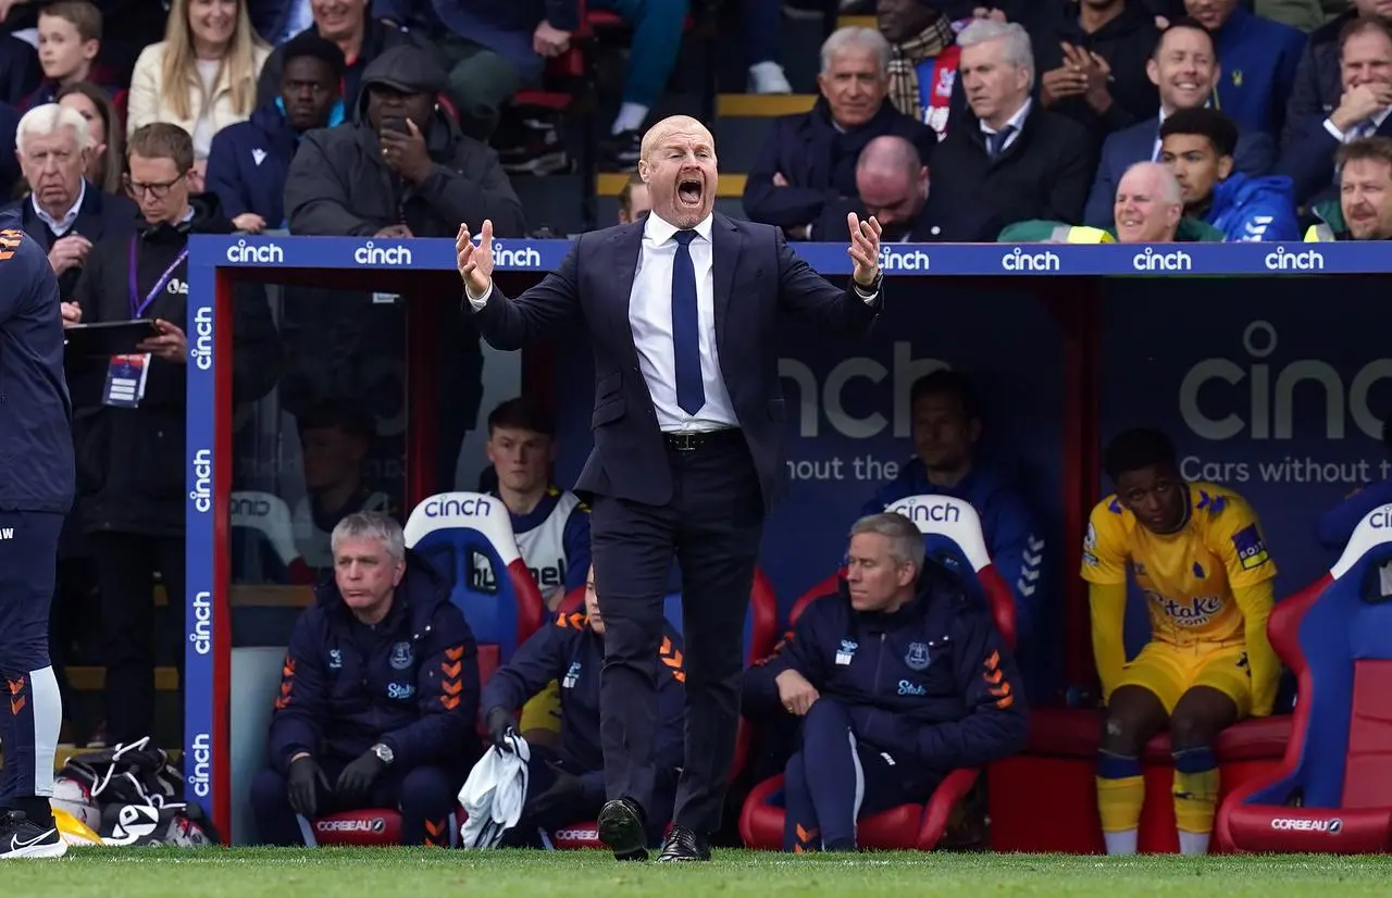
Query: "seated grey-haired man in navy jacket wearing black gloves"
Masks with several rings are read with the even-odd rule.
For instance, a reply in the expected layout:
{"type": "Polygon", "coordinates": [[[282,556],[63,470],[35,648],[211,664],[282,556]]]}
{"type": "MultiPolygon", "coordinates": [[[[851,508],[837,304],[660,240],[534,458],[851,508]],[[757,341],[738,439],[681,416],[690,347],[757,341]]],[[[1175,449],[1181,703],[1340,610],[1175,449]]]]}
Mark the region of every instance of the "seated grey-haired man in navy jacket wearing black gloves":
{"type": "Polygon", "coordinates": [[[480,753],[473,632],[395,519],[348,515],[331,543],[334,579],[295,624],[252,780],[260,841],[303,845],[296,814],[400,808],[402,844],[448,845],[480,753]]]}

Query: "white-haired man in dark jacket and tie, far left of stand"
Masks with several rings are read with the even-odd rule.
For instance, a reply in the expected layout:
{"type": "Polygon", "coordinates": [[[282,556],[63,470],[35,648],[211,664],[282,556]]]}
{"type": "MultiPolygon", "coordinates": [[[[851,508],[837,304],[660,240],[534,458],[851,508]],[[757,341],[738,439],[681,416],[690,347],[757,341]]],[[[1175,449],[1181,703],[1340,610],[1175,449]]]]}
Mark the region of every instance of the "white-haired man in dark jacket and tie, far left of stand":
{"type": "Polygon", "coordinates": [[[75,109],[35,106],[19,120],[14,146],[29,194],[0,213],[17,213],[24,233],[49,253],[58,297],[68,302],[92,246],[103,237],[129,234],[138,209],[84,177],[92,134],[75,109]]]}

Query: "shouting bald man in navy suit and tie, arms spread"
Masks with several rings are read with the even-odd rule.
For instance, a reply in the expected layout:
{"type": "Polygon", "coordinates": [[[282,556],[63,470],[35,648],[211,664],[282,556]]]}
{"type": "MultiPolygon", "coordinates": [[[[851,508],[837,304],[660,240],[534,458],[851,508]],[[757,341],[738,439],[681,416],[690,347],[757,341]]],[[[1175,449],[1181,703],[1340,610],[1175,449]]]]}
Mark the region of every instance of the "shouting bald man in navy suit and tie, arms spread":
{"type": "Polygon", "coordinates": [[[864,334],[883,306],[880,224],[846,217],[852,283],[832,287],[778,228],[713,214],[715,146],[675,116],[643,136],[653,210],[583,234],[516,299],[493,285],[493,226],[459,227],[458,262],[479,331],[516,349],[583,324],[594,348],[592,493],[596,588],[604,596],[601,742],[608,802],[600,838],[647,858],[657,647],[675,557],[686,640],[686,752],[660,860],[706,860],[739,724],[743,629],[763,522],[786,489],[777,312],[864,334]]]}

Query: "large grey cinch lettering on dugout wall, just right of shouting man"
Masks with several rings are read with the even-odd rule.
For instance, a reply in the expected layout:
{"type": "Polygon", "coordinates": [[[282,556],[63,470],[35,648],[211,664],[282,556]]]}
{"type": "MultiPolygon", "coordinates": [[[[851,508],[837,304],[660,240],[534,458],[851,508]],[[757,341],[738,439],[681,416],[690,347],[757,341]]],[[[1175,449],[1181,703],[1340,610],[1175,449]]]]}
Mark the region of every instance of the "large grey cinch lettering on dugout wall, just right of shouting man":
{"type": "MultiPolygon", "coordinates": [[[[853,356],[839,362],[825,377],[824,386],[818,390],[817,377],[805,362],[798,359],[778,359],[778,376],[792,380],[798,386],[798,402],[788,402],[789,411],[798,413],[798,436],[816,437],[821,430],[821,415],[825,415],[831,429],[852,440],[867,440],[880,436],[889,420],[880,412],[869,415],[853,415],[846,411],[845,391],[852,380],[869,380],[873,384],[884,381],[892,376],[894,397],[894,436],[908,439],[913,423],[913,409],[909,408],[909,391],[915,381],[926,375],[931,375],[940,368],[948,368],[940,359],[913,358],[913,344],[908,340],[894,344],[894,370],[887,369],[876,359],[853,356]]],[[[884,395],[880,390],[869,387],[853,388],[855,393],[866,397],[884,395]]]]}

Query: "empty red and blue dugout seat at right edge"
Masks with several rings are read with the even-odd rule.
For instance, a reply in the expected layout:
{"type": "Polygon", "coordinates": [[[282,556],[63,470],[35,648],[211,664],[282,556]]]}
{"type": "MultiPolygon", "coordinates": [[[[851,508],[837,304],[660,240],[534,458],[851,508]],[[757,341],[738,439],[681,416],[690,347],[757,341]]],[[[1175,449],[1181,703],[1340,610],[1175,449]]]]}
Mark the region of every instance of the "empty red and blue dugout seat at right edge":
{"type": "Polygon", "coordinates": [[[1297,699],[1281,766],[1222,803],[1240,852],[1392,849],[1392,505],[1368,514],[1338,564],[1276,606],[1268,632],[1297,699]]]}

